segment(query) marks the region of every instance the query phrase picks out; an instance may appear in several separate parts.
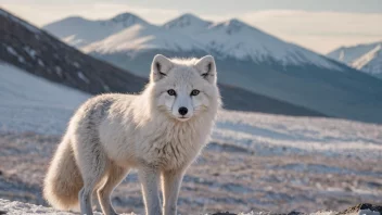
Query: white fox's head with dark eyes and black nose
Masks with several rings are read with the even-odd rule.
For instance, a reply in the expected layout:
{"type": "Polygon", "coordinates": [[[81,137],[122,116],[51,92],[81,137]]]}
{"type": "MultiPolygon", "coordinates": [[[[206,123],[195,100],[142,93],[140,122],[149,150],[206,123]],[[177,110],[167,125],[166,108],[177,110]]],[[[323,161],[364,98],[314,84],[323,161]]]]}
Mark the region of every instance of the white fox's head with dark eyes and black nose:
{"type": "Polygon", "coordinates": [[[152,105],[168,116],[186,122],[220,105],[215,60],[154,56],[150,85],[152,105]]]}

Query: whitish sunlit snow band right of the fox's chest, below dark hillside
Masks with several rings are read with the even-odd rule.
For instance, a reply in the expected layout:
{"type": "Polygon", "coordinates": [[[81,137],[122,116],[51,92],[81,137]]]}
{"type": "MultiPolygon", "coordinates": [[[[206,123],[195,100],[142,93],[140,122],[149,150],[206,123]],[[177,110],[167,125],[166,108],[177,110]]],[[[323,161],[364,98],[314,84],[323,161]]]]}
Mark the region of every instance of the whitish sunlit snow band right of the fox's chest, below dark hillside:
{"type": "Polygon", "coordinates": [[[273,116],[221,112],[213,140],[251,149],[258,154],[280,153],[382,159],[382,126],[343,119],[273,116]],[[329,126],[330,125],[330,126],[329,126]]]}

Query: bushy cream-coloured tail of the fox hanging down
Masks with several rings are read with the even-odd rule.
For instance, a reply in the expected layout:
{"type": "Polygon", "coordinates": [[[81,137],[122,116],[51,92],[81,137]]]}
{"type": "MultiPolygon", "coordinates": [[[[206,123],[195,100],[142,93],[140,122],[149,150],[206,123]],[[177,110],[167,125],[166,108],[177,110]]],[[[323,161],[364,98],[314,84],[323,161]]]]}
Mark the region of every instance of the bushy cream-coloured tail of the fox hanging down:
{"type": "Polygon", "coordinates": [[[78,192],[82,185],[69,139],[64,137],[44,178],[43,198],[53,207],[75,208],[78,206],[78,192]]]}

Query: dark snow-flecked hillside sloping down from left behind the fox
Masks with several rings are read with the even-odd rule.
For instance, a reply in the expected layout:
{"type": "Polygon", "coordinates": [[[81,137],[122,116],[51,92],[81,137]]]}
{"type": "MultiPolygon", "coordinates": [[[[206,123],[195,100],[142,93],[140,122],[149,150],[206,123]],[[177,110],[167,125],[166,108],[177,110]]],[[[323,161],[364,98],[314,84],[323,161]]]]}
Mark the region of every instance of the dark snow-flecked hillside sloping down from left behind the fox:
{"type": "MultiPolygon", "coordinates": [[[[116,20],[118,18],[116,17],[116,20]]],[[[120,69],[84,54],[44,30],[1,9],[0,23],[0,63],[7,62],[36,76],[93,94],[102,92],[137,93],[147,83],[147,76],[132,75],[126,69],[120,69]]],[[[150,63],[145,63],[142,67],[149,69],[150,63]]],[[[7,75],[5,72],[4,75],[7,75]]],[[[27,76],[20,77],[22,79],[20,79],[18,86],[28,81],[27,76]]],[[[5,91],[5,96],[9,92],[20,91],[18,89],[12,89],[12,86],[16,87],[9,84],[9,88],[2,89],[3,86],[0,86],[0,93],[2,93],[1,90],[5,91]]],[[[28,86],[31,85],[26,83],[25,88],[28,88],[28,86]]],[[[49,85],[43,84],[39,87],[39,90],[50,89],[50,87],[44,86],[49,85]]],[[[30,90],[38,91],[36,89],[30,90]]],[[[226,109],[284,115],[324,116],[316,111],[243,90],[239,87],[220,85],[220,90],[226,109]]],[[[31,100],[25,94],[22,97],[31,100]]]]}

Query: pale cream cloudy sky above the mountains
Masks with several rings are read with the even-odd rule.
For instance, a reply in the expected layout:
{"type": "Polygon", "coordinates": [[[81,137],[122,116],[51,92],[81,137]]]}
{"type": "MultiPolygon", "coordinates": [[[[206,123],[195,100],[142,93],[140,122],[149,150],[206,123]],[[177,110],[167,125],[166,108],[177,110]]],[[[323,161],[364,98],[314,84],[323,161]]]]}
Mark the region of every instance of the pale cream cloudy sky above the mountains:
{"type": "Polygon", "coordinates": [[[39,27],[73,15],[100,20],[124,12],[153,24],[182,13],[213,22],[235,17],[322,54],[382,41],[382,0],[0,0],[0,7],[39,27]]]}

